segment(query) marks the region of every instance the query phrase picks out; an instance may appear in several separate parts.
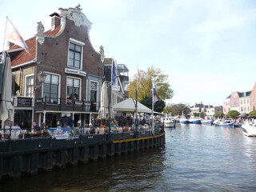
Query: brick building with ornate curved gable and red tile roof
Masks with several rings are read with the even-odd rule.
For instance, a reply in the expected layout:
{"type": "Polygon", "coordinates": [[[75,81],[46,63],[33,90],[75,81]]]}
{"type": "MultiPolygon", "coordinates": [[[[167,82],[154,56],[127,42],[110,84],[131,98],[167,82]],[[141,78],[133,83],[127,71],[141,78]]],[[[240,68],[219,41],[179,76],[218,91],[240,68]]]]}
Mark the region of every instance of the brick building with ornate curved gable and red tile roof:
{"type": "Polygon", "coordinates": [[[29,54],[10,45],[14,90],[14,121],[22,127],[61,126],[67,118],[93,122],[98,115],[104,78],[104,50],[90,43],[91,22],[80,6],[50,14],[51,29],[38,22],[37,34],[26,40],[29,54]],[[38,74],[46,76],[38,82],[38,74]]]}

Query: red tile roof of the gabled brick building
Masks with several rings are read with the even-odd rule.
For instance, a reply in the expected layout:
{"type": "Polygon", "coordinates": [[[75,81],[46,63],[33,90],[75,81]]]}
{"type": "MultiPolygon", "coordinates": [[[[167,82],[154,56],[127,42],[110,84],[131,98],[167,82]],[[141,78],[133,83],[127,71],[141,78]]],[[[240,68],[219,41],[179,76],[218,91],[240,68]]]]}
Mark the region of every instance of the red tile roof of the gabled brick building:
{"type": "MultiPolygon", "coordinates": [[[[58,26],[56,27],[56,29],[54,30],[47,30],[44,34],[46,36],[50,36],[53,37],[56,34],[58,34],[61,30],[62,26],[58,26]]],[[[26,52],[26,50],[21,50],[19,54],[17,54],[16,57],[12,58],[11,61],[11,66],[18,66],[21,64],[24,64],[26,62],[31,62],[36,58],[36,37],[34,36],[33,38],[27,39],[26,41],[26,45],[29,47],[29,54],[26,52]]],[[[19,46],[14,45],[10,47],[10,52],[13,50],[15,51],[16,49],[18,49],[19,46]]]]}

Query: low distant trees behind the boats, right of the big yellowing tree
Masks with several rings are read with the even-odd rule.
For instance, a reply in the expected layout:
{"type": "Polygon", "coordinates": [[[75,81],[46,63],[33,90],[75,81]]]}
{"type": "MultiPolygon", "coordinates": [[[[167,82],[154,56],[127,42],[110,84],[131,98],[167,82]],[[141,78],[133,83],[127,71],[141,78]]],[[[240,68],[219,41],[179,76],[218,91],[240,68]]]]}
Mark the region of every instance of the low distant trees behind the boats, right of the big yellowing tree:
{"type": "Polygon", "coordinates": [[[169,104],[165,107],[163,110],[165,114],[171,114],[172,116],[177,115],[188,115],[190,114],[190,106],[186,105],[184,103],[178,103],[178,104],[169,104]]]}

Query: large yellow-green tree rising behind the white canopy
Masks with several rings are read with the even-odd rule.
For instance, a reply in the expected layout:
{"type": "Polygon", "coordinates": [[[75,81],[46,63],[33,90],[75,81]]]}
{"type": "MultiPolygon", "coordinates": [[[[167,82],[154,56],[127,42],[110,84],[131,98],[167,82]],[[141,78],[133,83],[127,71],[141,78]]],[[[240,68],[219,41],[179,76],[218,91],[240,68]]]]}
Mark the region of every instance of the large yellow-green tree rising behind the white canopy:
{"type": "Polygon", "coordinates": [[[174,95],[174,90],[170,89],[168,83],[168,75],[162,74],[160,69],[149,67],[147,71],[140,70],[140,79],[138,74],[134,74],[134,80],[128,86],[129,97],[136,98],[136,89],[138,88],[138,102],[143,101],[143,105],[152,109],[152,81],[158,94],[158,102],[154,106],[154,110],[162,112],[166,103],[166,99],[170,99],[174,95]],[[151,102],[151,103],[150,103],[151,102]]]}

